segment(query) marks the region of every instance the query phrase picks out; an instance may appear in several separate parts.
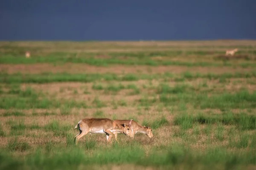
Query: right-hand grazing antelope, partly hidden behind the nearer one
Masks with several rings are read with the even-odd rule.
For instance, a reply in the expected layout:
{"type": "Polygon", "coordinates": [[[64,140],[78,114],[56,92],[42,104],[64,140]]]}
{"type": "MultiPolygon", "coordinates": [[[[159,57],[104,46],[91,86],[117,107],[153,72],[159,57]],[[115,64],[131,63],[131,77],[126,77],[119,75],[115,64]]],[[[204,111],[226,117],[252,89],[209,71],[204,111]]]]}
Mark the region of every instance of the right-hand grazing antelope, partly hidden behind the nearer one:
{"type": "MultiPolygon", "coordinates": [[[[113,120],[114,122],[118,123],[118,124],[124,124],[124,123],[128,123],[129,120],[113,120]]],[[[131,123],[131,132],[132,132],[132,139],[134,139],[134,134],[136,133],[144,133],[145,135],[147,135],[149,138],[152,138],[153,137],[153,133],[152,133],[152,129],[148,126],[148,127],[145,127],[145,126],[141,126],[139,125],[137,122],[135,121],[132,121],[131,123]]],[[[117,133],[114,133],[115,135],[115,139],[117,138],[117,133]]],[[[110,136],[111,138],[111,136],[110,136]]]]}

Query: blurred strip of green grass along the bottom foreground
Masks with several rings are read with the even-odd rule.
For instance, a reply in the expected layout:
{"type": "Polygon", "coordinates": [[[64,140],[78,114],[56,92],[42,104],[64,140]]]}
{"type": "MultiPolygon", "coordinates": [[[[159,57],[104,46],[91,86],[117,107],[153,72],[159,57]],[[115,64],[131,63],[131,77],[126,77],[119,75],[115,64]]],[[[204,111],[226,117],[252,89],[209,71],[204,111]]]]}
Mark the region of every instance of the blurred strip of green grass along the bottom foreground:
{"type": "MultiPolygon", "coordinates": [[[[27,144],[14,144],[12,150],[26,150],[27,144]]],[[[87,146],[93,144],[87,144],[87,146]]],[[[145,150],[140,146],[116,146],[111,148],[94,149],[93,153],[88,153],[79,147],[67,147],[64,150],[54,149],[51,153],[44,153],[44,150],[38,149],[35,153],[29,154],[25,158],[10,157],[6,152],[0,153],[0,166],[2,168],[13,167],[19,169],[36,168],[52,169],[54,167],[70,169],[70,167],[81,167],[82,165],[106,165],[106,164],[137,164],[141,166],[169,166],[178,165],[188,167],[204,166],[215,169],[218,166],[224,166],[227,169],[236,166],[256,164],[256,156],[253,152],[245,153],[230,152],[223,148],[209,148],[204,152],[195,152],[189,148],[174,145],[167,147],[165,151],[152,149],[151,154],[145,156],[145,150]]],[[[207,169],[208,169],[207,168],[207,169]]]]}

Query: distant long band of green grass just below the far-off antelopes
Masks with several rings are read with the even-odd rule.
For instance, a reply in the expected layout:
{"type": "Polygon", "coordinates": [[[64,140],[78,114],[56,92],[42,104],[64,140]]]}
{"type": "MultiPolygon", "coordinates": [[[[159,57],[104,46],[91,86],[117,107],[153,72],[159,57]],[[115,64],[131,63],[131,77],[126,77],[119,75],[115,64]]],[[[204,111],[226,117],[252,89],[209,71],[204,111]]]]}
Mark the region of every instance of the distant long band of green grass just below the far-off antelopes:
{"type": "MultiPolygon", "coordinates": [[[[209,62],[205,61],[197,61],[197,62],[182,62],[176,60],[154,60],[149,57],[156,57],[154,53],[109,53],[108,56],[112,56],[111,58],[94,58],[97,54],[90,54],[90,53],[79,53],[79,57],[76,57],[76,53],[51,53],[46,56],[40,56],[40,54],[36,57],[31,57],[29,59],[19,55],[3,55],[0,57],[0,63],[5,64],[34,64],[34,63],[85,63],[88,65],[97,65],[97,66],[108,66],[108,65],[181,65],[181,66],[201,66],[201,67],[208,67],[208,66],[232,66],[233,63],[225,61],[223,63],[214,62],[215,60],[210,60],[209,62]],[[128,59],[120,59],[119,57],[126,56],[128,59]]],[[[160,52],[162,53],[162,52],[160,52]]],[[[198,57],[207,55],[207,51],[186,51],[183,52],[183,57],[189,57],[191,55],[197,55],[198,57]]],[[[211,52],[210,52],[211,53],[211,52]]],[[[167,52],[167,57],[170,59],[172,57],[177,57],[180,54],[180,51],[169,51],[167,52]],[[169,53],[169,54],[168,54],[169,53]]],[[[218,52],[215,51],[215,54],[218,52]]],[[[163,56],[165,57],[165,56],[163,56]]],[[[244,59],[244,63],[240,65],[247,65],[247,66],[255,66],[255,63],[252,62],[245,62],[250,58],[244,59]]]]}

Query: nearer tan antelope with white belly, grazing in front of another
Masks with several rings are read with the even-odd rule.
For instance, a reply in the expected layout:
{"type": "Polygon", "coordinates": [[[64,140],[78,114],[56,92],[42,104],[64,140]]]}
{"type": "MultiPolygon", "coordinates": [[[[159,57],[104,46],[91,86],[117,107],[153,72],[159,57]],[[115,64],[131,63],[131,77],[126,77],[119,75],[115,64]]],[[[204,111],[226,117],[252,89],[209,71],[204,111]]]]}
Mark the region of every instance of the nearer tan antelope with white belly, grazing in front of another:
{"type": "MultiPolygon", "coordinates": [[[[121,123],[118,124],[116,122],[113,122],[113,120],[105,118],[105,119],[97,119],[97,118],[90,118],[90,119],[82,119],[80,120],[76,126],[75,129],[79,129],[79,134],[76,135],[74,138],[74,143],[77,144],[77,141],[87,133],[105,133],[107,142],[109,143],[111,141],[110,136],[114,136],[113,133],[123,133],[126,136],[132,137],[132,131],[131,128],[131,122],[132,119],[128,121],[127,123],[121,123]]],[[[115,138],[116,140],[116,138],[115,138]]],[[[116,142],[118,142],[116,140],[116,142]]]]}

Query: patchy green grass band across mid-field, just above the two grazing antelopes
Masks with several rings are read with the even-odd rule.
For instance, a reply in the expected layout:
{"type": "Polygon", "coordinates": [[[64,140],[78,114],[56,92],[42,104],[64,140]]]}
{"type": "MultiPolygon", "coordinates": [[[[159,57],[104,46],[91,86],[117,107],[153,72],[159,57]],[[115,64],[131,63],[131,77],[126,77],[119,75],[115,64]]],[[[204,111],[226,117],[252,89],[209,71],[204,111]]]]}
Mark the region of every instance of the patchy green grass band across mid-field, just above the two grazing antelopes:
{"type": "MultiPolygon", "coordinates": [[[[121,89],[125,88],[134,88],[137,89],[140,93],[140,90],[135,86],[124,86],[122,84],[119,85],[109,85],[105,89],[105,91],[113,91],[117,92],[121,89]]],[[[201,90],[201,86],[193,87],[184,83],[177,83],[174,87],[170,87],[167,83],[161,83],[159,86],[150,88],[148,90],[156,90],[156,93],[159,94],[159,97],[152,94],[142,96],[141,99],[138,100],[135,105],[141,105],[145,108],[149,108],[152,104],[163,103],[166,107],[170,104],[177,105],[180,111],[186,110],[186,105],[192,105],[195,108],[199,109],[245,109],[245,108],[256,108],[256,92],[249,92],[246,89],[241,89],[240,91],[236,91],[233,93],[226,91],[215,91],[214,88],[212,90],[201,90]],[[210,96],[209,96],[210,94],[210,96]]],[[[136,91],[137,91],[136,90],[136,91]]],[[[108,105],[108,102],[103,102],[99,99],[99,97],[95,96],[92,101],[92,104],[87,104],[86,101],[75,101],[73,99],[48,99],[45,94],[36,93],[33,90],[19,92],[18,94],[8,94],[3,95],[0,98],[0,108],[3,109],[27,109],[27,108],[61,108],[61,114],[68,115],[71,113],[72,108],[102,108],[108,105]],[[32,92],[31,92],[32,91],[32,92]],[[26,94],[26,95],[24,95],[26,94]],[[17,97],[13,97],[13,95],[17,95],[17,97]]],[[[105,92],[106,93],[106,92],[105,92]]],[[[131,93],[127,93],[127,95],[131,95],[131,93]]],[[[128,104],[124,99],[112,103],[114,107],[117,105],[128,106],[128,104]]],[[[134,105],[134,104],[132,104],[134,105]]],[[[22,116],[22,113],[4,113],[3,116],[22,116]]],[[[23,115],[24,116],[24,115],[23,115]]]]}

